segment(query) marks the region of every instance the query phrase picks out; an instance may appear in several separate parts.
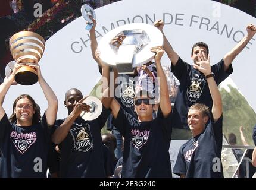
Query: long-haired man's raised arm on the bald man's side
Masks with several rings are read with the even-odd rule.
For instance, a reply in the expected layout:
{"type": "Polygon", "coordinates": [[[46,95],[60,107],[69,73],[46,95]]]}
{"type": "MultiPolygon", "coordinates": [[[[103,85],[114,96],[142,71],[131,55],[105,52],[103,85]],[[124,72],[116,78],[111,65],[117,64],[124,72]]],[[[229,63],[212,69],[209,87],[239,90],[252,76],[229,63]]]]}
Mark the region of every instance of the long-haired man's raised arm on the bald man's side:
{"type": "Polygon", "coordinates": [[[54,122],[57,117],[57,110],[58,110],[58,99],[52,91],[52,88],[46,83],[45,79],[42,76],[39,64],[26,64],[29,66],[33,66],[36,69],[38,74],[38,82],[43,90],[43,94],[45,94],[45,98],[48,102],[48,107],[45,111],[46,121],[49,126],[54,125],[54,122]]]}

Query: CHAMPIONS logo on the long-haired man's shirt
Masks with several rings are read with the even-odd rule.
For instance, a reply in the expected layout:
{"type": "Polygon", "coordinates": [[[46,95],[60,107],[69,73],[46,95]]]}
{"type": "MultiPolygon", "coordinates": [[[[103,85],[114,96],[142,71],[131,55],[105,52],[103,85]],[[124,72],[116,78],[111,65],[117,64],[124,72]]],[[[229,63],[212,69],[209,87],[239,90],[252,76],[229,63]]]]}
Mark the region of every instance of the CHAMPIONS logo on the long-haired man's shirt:
{"type": "Polygon", "coordinates": [[[11,141],[13,141],[15,147],[21,154],[28,150],[36,141],[36,132],[17,133],[16,131],[12,131],[10,136],[11,141]]]}

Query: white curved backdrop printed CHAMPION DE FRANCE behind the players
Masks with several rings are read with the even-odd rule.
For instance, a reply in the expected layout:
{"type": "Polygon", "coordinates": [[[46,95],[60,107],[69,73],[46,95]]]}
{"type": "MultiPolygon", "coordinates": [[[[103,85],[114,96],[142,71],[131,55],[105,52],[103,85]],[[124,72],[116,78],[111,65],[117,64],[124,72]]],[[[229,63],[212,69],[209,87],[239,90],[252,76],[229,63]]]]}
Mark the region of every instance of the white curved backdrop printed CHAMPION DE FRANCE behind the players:
{"type": "MultiPolygon", "coordinates": [[[[95,10],[97,15],[98,40],[114,27],[127,23],[148,23],[164,19],[164,32],[180,57],[192,62],[193,43],[204,41],[210,47],[211,63],[216,63],[231,50],[246,34],[248,23],[256,24],[256,19],[238,9],[206,0],[123,0],[95,10]]],[[[85,20],[77,18],[54,34],[46,42],[46,50],[39,62],[42,74],[54,89],[59,100],[57,118],[67,116],[63,105],[64,94],[69,88],[79,88],[89,94],[99,80],[98,66],[90,53],[89,32],[85,30],[85,20]]],[[[256,110],[254,98],[254,76],[256,42],[248,46],[233,62],[232,80],[256,110]]],[[[169,65],[167,56],[163,65],[169,65]]],[[[12,86],[5,97],[4,108],[11,114],[11,105],[19,94],[30,94],[41,106],[47,107],[46,99],[39,84],[32,86],[12,86]]]]}

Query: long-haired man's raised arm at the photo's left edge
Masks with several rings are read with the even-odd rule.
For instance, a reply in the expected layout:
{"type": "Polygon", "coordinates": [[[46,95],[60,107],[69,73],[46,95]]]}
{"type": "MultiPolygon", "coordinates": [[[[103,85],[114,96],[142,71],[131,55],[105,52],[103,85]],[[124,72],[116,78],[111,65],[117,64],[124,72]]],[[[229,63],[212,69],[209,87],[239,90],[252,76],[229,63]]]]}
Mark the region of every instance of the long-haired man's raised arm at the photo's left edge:
{"type": "Polygon", "coordinates": [[[11,75],[7,78],[7,80],[5,80],[1,85],[0,85],[0,120],[2,119],[2,117],[5,114],[5,110],[4,107],[2,107],[2,104],[4,103],[4,97],[7,94],[7,91],[9,90],[10,86],[13,84],[14,80],[14,76],[17,72],[17,70],[19,68],[21,68],[21,66],[25,66],[25,64],[19,64],[17,62],[17,64],[14,65],[13,68],[13,72],[11,73],[11,75]]]}

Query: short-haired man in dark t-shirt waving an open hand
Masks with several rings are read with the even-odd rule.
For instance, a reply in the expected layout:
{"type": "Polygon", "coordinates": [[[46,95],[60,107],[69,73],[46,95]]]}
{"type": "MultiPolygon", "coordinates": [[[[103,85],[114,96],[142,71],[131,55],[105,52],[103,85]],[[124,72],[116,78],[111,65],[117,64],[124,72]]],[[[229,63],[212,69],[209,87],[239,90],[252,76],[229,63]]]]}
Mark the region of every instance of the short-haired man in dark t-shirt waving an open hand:
{"type": "Polygon", "coordinates": [[[173,173],[181,178],[223,178],[222,149],[222,102],[220,91],[211,72],[210,58],[199,51],[198,71],[207,80],[213,106],[196,103],[188,111],[188,125],[193,137],[180,147],[173,173]],[[208,120],[210,122],[208,123],[208,120]]]}

